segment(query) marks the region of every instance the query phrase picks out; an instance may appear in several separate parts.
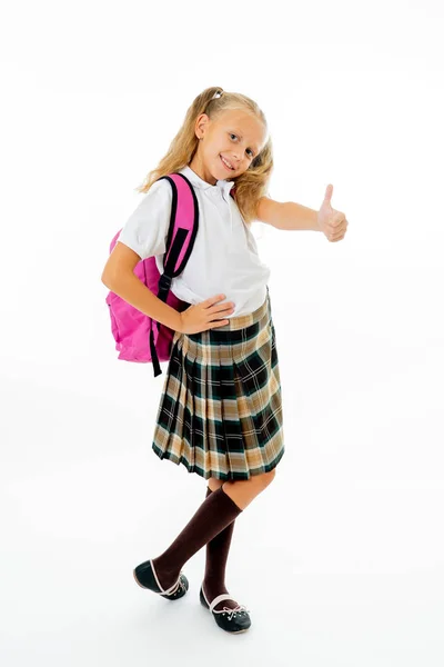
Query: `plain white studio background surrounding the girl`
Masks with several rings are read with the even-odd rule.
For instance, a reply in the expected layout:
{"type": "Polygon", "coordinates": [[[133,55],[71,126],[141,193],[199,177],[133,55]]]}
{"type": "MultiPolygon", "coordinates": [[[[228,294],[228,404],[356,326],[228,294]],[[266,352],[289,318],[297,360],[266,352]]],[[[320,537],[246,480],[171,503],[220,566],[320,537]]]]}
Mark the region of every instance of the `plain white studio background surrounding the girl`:
{"type": "Polygon", "coordinates": [[[442,666],[443,6],[20,2],[2,11],[1,611],[8,667],[442,666]],[[272,196],[343,241],[256,225],[286,451],[238,520],[229,636],[141,590],[203,501],[158,459],[163,374],[117,360],[101,272],[192,100],[254,98],[272,196]]]}

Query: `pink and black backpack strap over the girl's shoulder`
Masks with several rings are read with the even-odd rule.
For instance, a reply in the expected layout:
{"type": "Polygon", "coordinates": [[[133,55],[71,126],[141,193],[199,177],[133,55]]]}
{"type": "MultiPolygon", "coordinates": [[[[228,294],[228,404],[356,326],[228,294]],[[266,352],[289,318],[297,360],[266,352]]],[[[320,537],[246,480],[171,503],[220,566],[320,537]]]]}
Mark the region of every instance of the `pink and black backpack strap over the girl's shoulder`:
{"type": "MultiPolygon", "coordinates": [[[[162,176],[172,188],[172,206],[170,226],[168,230],[165,252],[163,255],[163,273],[159,279],[158,298],[167,302],[172,279],[179,276],[186,266],[194,246],[199,229],[199,206],[193,186],[183,173],[162,176]]],[[[153,320],[160,331],[160,322],[153,320]]],[[[161,375],[159,357],[154,345],[153,327],[150,331],[151,360],[154,377],[161,375]]]]}

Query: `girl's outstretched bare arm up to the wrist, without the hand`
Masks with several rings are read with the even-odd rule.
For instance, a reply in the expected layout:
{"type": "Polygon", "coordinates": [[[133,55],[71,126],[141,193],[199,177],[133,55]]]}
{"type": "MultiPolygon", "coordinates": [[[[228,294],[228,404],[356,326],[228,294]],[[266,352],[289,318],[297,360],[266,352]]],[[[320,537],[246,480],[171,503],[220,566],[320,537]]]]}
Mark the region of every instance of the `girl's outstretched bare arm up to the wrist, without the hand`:
{"type": "Polygon", "coordinates": [[[270,197],[261,197],[256,207],[256,218],[276,229],[321,231],[317,211],[294,201],[274,201],[270,197]]]}

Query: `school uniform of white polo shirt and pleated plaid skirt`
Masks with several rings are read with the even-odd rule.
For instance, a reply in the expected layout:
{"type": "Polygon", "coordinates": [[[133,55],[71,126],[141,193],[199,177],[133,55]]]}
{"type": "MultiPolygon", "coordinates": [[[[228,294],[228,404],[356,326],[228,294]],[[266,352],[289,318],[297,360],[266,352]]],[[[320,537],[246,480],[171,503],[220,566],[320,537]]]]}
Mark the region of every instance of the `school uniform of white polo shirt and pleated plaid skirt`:
{"type": "MultiPolygon", "coordinates": [[[[284,454],[270,269],[230,195],[234,182],[212,186],[188,166],[179,173],[194,188],[199,229],[171,290],[190,305],[224,293],[235,309],[222,327],[175,332],[152,449],[205,479],[249,479],[284,454]]],[[[142,259],[155,256],[161,273],[171,203],[170,183],[154,182],[118,238],[142,259]]]]}

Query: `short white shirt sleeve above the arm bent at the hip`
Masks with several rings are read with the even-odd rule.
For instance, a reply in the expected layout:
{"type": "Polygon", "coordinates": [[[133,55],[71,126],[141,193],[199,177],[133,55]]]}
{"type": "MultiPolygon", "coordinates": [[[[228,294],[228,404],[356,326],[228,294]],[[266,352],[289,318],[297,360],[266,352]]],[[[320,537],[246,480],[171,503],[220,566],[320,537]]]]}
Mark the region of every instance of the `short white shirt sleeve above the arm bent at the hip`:
{"type": "Polygon", "coordinates": [[[163,255],[167,250],[171,206],[171,183],[167,179],[154,181],[128,218],[117,240],[134,250],[141,259],[163,255]]]}

